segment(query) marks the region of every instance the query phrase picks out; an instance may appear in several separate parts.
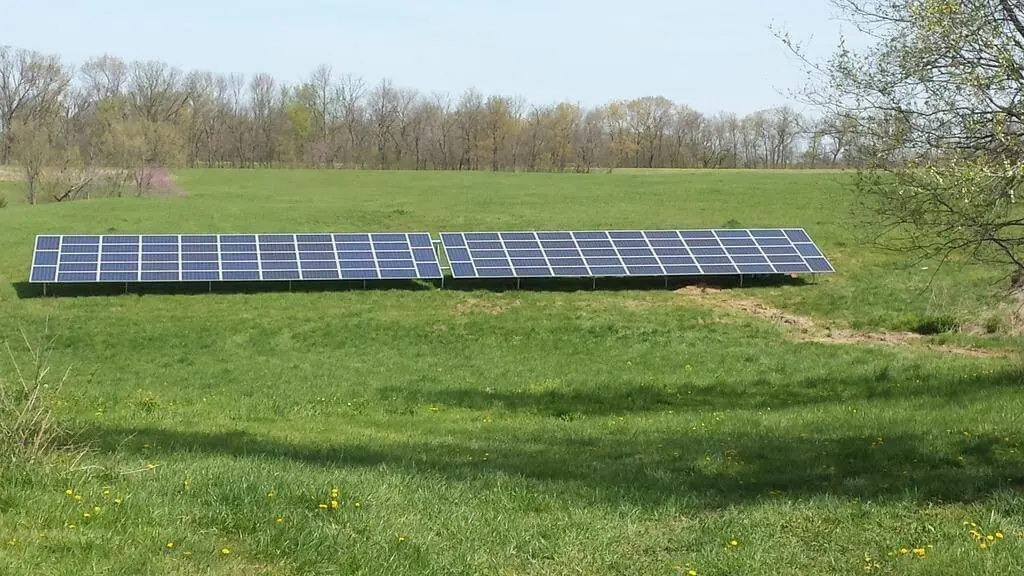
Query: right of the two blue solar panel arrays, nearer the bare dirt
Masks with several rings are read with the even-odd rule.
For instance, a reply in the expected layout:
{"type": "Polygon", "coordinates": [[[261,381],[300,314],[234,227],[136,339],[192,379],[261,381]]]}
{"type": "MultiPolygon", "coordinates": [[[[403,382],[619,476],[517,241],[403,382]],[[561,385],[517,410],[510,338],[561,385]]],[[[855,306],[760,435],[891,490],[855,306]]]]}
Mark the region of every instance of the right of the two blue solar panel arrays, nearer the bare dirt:
{"type": "Polygon", "coordinates": [[[830,273],[803,229],[442,233],[454,278],[830,273]]]}

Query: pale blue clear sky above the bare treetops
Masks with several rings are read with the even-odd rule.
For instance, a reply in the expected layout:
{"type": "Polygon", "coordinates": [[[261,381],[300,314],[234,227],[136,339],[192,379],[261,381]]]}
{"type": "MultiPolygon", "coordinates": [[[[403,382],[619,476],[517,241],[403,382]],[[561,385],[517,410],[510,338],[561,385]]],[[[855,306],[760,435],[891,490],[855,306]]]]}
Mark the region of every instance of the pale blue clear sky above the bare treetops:
{"type": "Polygon", "coordinates": [[[427,92],[743,114],[802,79],[769,25],[824,54],[831,13],[827,0],[0,0],[0,44],[76,65],[105,52],[295,82],[326,63],[427,92]]]}

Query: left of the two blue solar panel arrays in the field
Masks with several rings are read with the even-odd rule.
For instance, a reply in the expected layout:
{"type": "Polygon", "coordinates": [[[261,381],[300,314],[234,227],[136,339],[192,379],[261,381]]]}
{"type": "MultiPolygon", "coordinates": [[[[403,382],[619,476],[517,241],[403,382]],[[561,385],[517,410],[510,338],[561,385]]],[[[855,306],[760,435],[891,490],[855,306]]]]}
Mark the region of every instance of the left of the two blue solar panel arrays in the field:
{"type": "Polygon", "coordinates": [[[439,279],[426,233],[38,236],[30,282],[439,279]]]}

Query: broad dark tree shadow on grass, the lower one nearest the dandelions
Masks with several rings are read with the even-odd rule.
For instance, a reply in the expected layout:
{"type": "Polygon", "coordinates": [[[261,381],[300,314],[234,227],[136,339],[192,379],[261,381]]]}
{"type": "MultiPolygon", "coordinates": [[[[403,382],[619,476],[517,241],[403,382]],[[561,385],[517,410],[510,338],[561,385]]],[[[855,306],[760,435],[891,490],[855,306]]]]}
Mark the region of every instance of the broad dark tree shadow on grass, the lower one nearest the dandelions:
{"type": "Polygon", "coordinates": [[[407,474],[439,474],[451,481],[509,475],[649,505],[673,501],[720,507],[770,499],[776,493],[973,502],[998,490],[1024,489],[1024,461],[1019,454],[1009,454],[994,437],[955,439],[948,448],[936,448],[935,440],[924,435],[884,433],[812,438],[703,430],[638,438],[566,430],[501,438],[447,434],[434,442],[422,440],[425,436],[367,446],[292,443],[243,430],[114,427],[102,429],[98,440],[112,451],[129,437],[129,451],[147,443],[156,450],[145,451],[148,458],[167,452],[223,454],[325,467],[386,466],[407,474]]]}

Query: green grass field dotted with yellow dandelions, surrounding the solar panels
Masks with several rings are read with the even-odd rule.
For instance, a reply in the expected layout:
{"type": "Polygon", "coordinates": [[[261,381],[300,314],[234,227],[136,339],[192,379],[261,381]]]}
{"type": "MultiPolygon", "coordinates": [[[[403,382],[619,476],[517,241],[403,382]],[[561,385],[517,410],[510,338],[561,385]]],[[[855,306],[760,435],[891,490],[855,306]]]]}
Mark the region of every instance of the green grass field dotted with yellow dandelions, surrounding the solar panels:
{"type": "Polygon", "coordinates": [[[180,173],[177,198],[12,203],[0,334],[23,367],[19,330],[58,336],[50,365],[72,372],[53,400],[90,451],[4,464],[0,573],[1019,573],[1015,337],[956,337],[993,357],[798,342],[657,282],[59,298],[24,285],[32,239],[50,232],[735,220],[806,228],[839,274],[730,295],[860,329],[984,318],[996,274],[932,279],[864,245],[844,181],[225,170],[180,173]]]}

